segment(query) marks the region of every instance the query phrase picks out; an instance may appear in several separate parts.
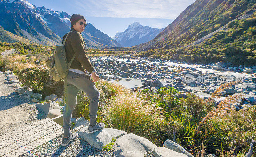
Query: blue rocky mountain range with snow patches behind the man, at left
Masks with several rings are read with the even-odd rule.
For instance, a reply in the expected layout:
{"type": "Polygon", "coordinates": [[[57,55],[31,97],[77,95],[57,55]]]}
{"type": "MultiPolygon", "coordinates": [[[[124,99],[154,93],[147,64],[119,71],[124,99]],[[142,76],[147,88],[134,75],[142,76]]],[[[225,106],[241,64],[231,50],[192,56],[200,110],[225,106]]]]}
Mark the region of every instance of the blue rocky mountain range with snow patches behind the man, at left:
{"type": "MultiPolygon", "coordinates": [[[[5,30],[48,46],[60,44],[71,28],[71,16],[66,12],[36,7],[25,0],[0,0],[0,15],[5,30]]],[[[89,23],[82,34],[90,48],[122,47],[89,23]]]]}

